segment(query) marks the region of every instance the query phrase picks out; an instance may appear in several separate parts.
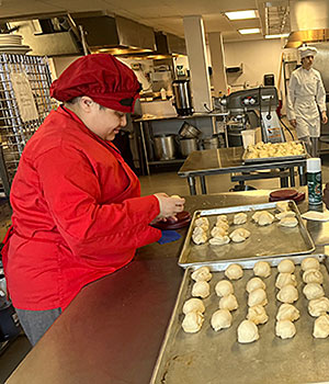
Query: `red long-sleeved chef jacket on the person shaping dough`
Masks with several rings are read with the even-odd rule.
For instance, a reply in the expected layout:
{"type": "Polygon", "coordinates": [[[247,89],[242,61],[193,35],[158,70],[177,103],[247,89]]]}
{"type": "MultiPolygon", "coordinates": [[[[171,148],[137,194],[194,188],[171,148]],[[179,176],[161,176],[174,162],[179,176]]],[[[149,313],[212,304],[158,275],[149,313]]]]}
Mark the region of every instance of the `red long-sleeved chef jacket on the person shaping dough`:
{"type": "Polygon", "coordinates": [[[156,196],[140,197],[118,150],[71,111],[50,112],[29,140],[14,177],[12,231],[3,267],[14,307],[65,308],[88,283],[158,240],[156,196]]]}

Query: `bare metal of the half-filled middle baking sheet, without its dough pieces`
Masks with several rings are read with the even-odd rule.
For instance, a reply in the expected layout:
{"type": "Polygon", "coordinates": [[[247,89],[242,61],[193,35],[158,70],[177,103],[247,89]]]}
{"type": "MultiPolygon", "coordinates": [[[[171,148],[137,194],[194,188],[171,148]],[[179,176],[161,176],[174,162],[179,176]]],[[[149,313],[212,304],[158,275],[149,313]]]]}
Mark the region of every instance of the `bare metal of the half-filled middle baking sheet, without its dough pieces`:
{"type": "Polygon", "coordinates": [[[306,229],[300,217],[299,210],[294,201],[288,201],[290,208],[296,213],[298,225],[294,228],[284,228],[279,226],[279,221],[271,225],[260,227],[251,216],[256,211],[269,211],[274,214],[276,203],[250,204],[226,208],[195,211],[186,234],[186,238],[179,258],[179,266],[186,268],[193,264],[204,264],[206,262],[216,262],[223,260],[242,260],[246,258],[276,257],[281,255],[300,255],[310,253],[315,250],[314,241],[306,229]],[[234,225],[234,215],[245,212],[248,216],[247,223],[234,225]],[[227,215],[229,223],[229,233],[237,228],[246,228],[250,231],[250,237],[239,244],[229,242],[225,246],[211,246],[208,241],[196,246],[192,241],[194,222],[197,217],[206,216],[209,221],[209,230],[215,226],[217,215],[227,215]]]}

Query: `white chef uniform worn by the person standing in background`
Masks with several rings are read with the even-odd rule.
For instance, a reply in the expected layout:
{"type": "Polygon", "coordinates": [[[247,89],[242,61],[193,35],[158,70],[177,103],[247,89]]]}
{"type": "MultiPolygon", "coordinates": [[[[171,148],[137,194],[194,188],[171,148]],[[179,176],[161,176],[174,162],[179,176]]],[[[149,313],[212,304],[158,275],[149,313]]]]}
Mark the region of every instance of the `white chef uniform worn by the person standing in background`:
{"type": "Polygon", "coordinates": [[[303,67],[294,70],[287,93],[287,117],[296,120],[298,138],[320,136],[319,110],[326,111],[326,91],[320,72],[303,67]]]}

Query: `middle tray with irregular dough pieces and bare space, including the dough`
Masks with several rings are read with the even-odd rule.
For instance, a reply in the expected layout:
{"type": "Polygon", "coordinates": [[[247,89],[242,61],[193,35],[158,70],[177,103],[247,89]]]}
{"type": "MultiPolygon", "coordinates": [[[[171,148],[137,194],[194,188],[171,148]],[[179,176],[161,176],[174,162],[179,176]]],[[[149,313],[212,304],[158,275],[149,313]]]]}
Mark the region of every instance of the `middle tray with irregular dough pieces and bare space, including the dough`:
{"type": "Polygon", "coordinates": [[[179,266],[314,250],[294,201],[250,204],[194,212],[179,266]]]}

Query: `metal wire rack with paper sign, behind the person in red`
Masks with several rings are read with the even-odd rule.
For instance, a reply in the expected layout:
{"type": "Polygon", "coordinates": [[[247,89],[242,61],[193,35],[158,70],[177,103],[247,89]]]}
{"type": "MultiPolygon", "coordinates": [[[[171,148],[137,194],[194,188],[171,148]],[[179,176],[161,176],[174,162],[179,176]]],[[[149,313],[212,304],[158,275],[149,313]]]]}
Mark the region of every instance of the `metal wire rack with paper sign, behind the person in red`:
{"type": "Polygon", "coordinates": [[[5,196],[25,144],[55,106],[49,95],[50,82],[46,57],[0,54],[0,192],[5,196]],[[21,82],[20,92],[15,88],[18,82],[21,82]],[[35,108],[34,115],[30,114],[33,118],[24,111],[29,92],[33,95],[30,106],[35,108]]]}

